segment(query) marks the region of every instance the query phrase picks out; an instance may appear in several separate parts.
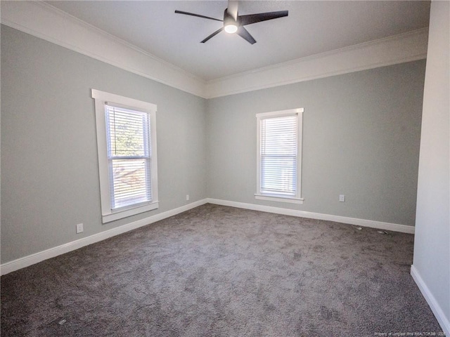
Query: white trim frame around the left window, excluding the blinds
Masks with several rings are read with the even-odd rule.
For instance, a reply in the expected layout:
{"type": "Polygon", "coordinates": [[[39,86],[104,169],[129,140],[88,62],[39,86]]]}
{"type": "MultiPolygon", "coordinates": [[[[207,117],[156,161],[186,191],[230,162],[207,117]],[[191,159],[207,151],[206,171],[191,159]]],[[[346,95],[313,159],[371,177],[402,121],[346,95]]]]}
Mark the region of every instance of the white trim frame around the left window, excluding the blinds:
{"type": "Polygon", "coordinates": [[[91,89],[91,97],[95,100],[96,130],[97,130],[97,152],[98,152],[98,175],[100,179],[100,199],[102,223],[134,216],[135,214],[158,209],[158,159],[156,150],[156,110],[157,106],[152,103],[134,100],[113,93],[105,93],[91,89]],[[110,181],[108,169],[108,150],[106,138],[105,103],[115,103],[117,106],[127,107],[131,110],[148,112],[150,115],[150,142],[152,147],[152,159],[150,161],[152,201],[146,204],[123,207],[113,210],[110,204],[110,181]]]}

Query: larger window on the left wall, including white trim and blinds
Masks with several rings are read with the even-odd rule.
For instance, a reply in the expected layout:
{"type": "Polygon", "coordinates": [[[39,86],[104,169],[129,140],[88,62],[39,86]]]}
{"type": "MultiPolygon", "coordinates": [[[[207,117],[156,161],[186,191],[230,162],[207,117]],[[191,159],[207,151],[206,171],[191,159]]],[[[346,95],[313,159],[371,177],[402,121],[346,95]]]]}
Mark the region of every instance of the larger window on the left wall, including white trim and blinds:
{"type": "Polygon", "coordinates": [[[158,208],[156,105],[92,89],[102,222],[158,208]]]}

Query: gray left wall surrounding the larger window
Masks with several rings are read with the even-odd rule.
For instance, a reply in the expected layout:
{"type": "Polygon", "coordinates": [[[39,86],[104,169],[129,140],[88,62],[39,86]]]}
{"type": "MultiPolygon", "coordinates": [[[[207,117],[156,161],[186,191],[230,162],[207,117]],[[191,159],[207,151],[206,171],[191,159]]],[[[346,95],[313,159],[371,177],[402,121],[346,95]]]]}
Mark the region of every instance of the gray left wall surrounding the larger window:
{"type": "Polygon", "coordinates": [[[1,263],[205,199],[205,108],[203,98],[2,26],[1,263]],[[91,88],[158,105],[157,211],[101,224],[91,88]]]}

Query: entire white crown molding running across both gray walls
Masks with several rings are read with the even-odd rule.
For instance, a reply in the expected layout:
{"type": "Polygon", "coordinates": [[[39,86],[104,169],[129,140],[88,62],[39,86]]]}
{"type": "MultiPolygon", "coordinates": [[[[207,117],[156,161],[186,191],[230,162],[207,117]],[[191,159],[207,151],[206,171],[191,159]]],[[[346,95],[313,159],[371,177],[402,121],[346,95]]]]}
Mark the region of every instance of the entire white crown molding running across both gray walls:
{"type": "Polygon", "coordinates": [[[426,58],[428,28],[205,81],[43,1],[1,1],[1,23],[202,98],[426,58]]]}

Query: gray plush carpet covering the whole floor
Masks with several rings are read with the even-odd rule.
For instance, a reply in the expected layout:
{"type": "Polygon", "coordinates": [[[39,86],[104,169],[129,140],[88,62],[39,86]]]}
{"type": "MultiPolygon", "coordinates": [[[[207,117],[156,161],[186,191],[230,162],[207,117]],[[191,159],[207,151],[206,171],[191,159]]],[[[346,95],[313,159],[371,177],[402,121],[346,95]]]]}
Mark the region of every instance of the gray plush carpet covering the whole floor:
{"type": "Polygon", "coordinates": [[[412,257],[411,234],[207,204],[1,277],[1,336],[443,336],[412,257]]]}

